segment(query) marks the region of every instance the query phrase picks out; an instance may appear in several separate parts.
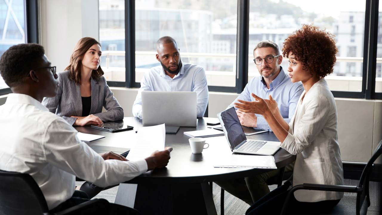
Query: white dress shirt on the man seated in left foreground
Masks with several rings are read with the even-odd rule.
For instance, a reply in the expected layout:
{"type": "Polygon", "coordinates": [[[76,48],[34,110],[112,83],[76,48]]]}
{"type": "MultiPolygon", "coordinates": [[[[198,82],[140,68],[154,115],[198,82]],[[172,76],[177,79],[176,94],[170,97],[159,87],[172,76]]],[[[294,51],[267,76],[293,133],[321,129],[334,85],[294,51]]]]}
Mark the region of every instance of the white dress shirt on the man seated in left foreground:
{"type": "Polygon", "coordinates": [[[0,127],[0,169],[30,174],[49,210],[73,195],[75,176],[107,187],[147,171],[145,160],[104,160],[64,119],[25,94],[9,94],[0,127]]]}

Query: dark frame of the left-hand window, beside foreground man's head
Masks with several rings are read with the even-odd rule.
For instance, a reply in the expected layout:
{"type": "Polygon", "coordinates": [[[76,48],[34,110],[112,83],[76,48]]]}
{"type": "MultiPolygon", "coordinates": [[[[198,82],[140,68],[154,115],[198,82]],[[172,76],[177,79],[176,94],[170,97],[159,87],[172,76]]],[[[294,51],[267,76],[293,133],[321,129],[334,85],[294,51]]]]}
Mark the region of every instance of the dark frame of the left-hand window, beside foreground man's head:
{"type": "MultiPolygon", "coordinates": [[[[38,0],[24,0],[25,38],[27,43],[39,43],[39,13],[38,0]]],[[[11,89],[0,89],[0,96],[12,93],[11,89]]]]}

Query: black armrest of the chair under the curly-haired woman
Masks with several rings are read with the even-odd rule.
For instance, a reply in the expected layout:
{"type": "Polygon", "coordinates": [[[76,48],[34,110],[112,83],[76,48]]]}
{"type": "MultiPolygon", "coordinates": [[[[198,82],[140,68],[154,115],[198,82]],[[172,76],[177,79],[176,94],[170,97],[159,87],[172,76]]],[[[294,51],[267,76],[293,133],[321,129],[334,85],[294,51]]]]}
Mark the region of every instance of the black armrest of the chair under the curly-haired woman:
{"type": "Polygon", "coordinates": [[[283,208],[281,210],[281,215],[286,213],[286,207],[288,205],[288,201],[293,195],[293,193],[297,190],[315,190],[315,191],[335,191],[335,192],[362,192],[362,189],[357,186],[345,186],[345,185],[329,185],[329,184],[299,184],[292,187],[288,191],[288,195],[286,196],[285,202],[283,204],[283,208]]]}

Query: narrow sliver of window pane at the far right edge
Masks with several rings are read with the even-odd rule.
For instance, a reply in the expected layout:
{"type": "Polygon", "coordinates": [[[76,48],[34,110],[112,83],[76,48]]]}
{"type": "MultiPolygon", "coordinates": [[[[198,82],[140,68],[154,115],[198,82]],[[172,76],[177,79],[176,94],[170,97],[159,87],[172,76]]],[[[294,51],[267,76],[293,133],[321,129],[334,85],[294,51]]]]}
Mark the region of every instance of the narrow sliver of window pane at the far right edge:
{"type": "Polygon", "coordinates": [[[376,93],[382,93],[382,2],[379,3],[378,9],[376,93]]]}

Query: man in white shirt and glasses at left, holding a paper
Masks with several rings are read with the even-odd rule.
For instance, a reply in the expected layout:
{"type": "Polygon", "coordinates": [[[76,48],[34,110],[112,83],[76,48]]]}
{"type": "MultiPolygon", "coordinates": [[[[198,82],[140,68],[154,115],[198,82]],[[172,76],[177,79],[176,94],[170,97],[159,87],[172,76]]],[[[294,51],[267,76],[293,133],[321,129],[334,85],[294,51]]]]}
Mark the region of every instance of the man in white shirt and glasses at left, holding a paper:
{"type": "MultiPolygon", "coordinates": [[[[83,195],[77,192],[82,191],[74,191],[76,176],[106,187],[167,166],[172,148],[135,162],[114,153],[101,156],[78,139],[71,125],[49,112],[41,101],[55,96],[58,82],[42,46],[10,47],[0,59],[0,72],[13,92],[0,106],[0,169],[30,174],[50,211],[88,200],[79,198],[83,195]]],[[[110,213],[133,210],[114,204],[110,208],[110,213]]]]}

